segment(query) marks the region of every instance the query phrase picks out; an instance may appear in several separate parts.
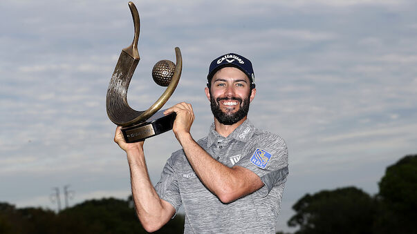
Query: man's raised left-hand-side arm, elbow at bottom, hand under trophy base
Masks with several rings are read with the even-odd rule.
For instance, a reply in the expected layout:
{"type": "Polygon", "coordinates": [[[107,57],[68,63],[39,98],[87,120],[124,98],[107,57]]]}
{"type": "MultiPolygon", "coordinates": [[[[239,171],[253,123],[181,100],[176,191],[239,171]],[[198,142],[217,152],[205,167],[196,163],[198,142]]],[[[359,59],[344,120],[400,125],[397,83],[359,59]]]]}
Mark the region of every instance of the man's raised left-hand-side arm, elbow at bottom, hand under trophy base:
{"type": "Polygon", "coordinates": [[[114,141],[127,153],[136,213],[145,230],[153,232],[169,221],[175,209],[171,204],[160,199],[152,186],[143,153],[144,142],[127,144],[120,128],[120,126],[116,128],[114,141]]]}

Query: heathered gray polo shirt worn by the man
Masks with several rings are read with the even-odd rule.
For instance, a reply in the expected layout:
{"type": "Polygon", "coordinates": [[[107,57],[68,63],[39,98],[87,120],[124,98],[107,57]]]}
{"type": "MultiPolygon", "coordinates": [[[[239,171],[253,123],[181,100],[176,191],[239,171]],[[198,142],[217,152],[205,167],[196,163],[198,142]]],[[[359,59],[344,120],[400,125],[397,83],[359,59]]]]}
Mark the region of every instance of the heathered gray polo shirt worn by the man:
{"type": "Polygon", "coordinates": [[[286,176],[288,150],[284,139],[261,131],[247,119],[228,137],[210,127],[197,142],[225,166],[242,166],[261,177],[258,191],[223,204],[198,179],[184,151],[167,160],[156,192],[161,199],[185,209],[184,233],[275,233],[286,176]]]}

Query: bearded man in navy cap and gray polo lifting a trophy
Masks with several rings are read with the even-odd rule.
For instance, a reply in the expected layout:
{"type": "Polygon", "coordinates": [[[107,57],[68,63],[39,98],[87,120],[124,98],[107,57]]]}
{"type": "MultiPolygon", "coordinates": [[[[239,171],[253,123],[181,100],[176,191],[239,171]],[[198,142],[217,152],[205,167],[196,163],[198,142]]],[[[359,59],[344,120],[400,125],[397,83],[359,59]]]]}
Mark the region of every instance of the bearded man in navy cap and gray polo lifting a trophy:
{"type": "Polygon", "coordinates": [[[237,54],[210,64],[205,95],[214,124],[195,142],[189,130],[191,104],[165,111],[176,113],[173,131],[183,147],[163,168],[152,186],[143,142],[124,142],[120,126],[115,142],[127,152],[136,212],[147,231],[156,231],[185,209],[184,233],[275,233],[288,175],[288,151],[278,135],[254,128],[247,119],[256,95],[251,62],[237,54]]]}

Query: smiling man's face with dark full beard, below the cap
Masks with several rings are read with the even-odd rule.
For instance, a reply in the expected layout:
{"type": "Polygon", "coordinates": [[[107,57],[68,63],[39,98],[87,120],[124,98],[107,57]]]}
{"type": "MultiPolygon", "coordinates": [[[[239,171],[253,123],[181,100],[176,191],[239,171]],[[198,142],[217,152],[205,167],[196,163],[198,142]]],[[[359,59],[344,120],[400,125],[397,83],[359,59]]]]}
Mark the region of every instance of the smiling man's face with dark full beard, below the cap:
{"type": "Polygon", "coordinates": [[[248,77],[238,68],[226,67],[217,71],[206,88],[214,117],[225,125],[232,125],[248,115],[250,101],[256,89],[250,92],[248,77]]]}

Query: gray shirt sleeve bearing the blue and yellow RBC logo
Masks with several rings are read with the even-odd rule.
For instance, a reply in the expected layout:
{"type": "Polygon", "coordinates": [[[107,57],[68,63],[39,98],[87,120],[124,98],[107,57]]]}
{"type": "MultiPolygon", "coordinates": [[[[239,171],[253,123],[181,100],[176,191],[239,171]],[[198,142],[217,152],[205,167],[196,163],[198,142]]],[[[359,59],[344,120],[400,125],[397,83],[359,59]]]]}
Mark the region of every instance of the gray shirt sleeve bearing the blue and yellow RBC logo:
{"type": "Polygon", "coordinates": [[[251,139],[243,150],[243,157],[235,164],[257,174],[263,184],[259,193],[268,195],[274,186],[286,182],[288,149],[284,139],[272,133],[262,133],[251,139]]]}

